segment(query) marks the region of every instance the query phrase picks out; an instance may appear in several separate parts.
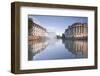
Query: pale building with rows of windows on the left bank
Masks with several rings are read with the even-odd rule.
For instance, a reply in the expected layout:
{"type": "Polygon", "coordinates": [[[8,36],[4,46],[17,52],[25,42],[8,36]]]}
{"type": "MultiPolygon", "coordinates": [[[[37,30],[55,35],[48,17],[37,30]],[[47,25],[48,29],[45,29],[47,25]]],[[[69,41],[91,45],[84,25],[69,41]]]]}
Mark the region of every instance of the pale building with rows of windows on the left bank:
{"type": "Polygon", "coordinates": [[[32,21],[32,19],[28,20],[28,39],[29,40],[36,40],[46,37],[47,31],[45,28],[36,24],[32,21]]]}

